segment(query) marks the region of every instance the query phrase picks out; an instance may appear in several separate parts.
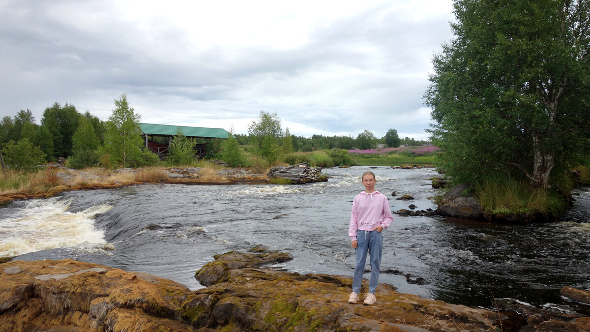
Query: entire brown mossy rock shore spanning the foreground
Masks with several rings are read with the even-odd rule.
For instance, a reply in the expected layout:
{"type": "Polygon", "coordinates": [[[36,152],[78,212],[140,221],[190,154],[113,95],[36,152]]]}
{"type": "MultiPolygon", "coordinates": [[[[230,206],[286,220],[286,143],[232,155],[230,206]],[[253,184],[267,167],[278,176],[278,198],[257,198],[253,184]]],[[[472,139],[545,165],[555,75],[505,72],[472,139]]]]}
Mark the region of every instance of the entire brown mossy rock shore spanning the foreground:
{"type": "MultiPolygon", "coordinates": [[[[0,265],[0,331],[587,331],[589,317],[506,313],[426,300],[379,285],[377,303],[349,304],[347,276],[261,266],[289,253],[215,256],[191,291],[157,276],[65,259],[0,265]],[[533,317],[533,318],[530,318],[533,317]],[[529,319],[530,318],[530,319],[529,319]]],[[[367,287],[363,284],[363,290],[367,287]]],[[[571,291],[569,291],[571,292],[571,291]]],[[[584,292],[584,291],[582,291],[584,292]]],[[[587,294],[578,294],[584,299],[587,294]]]]}

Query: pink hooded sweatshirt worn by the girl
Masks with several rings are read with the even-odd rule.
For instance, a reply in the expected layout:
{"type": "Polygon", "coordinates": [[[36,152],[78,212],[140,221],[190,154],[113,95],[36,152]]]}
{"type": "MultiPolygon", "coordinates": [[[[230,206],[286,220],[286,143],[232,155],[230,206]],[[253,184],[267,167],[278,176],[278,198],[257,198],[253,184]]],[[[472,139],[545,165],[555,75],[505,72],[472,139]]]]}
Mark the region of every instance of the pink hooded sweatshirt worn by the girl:
{"type": "Polygon", "coordinates": [[[387,197],[376,190],[370,194],[363,191],[352,201],[348,236],[355,241],[357,230],[373,230],[380,225],[386,229],[393,221],[387,197]]]}

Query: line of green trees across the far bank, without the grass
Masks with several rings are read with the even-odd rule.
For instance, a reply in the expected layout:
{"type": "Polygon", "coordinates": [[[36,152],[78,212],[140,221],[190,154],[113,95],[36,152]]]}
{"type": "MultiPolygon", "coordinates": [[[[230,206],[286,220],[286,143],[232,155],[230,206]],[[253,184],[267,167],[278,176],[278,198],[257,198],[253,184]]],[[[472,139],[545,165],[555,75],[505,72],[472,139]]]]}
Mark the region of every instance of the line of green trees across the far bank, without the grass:
{"type": "MultiPolygon", "coordinates": [[[[128,167],[153,165],[158,157],[142,151],[143,137],[135,113],[122,95],[114,100],[115,108],[107,121],[101,121],[90,112],[80,113],[74,105],[54,103],[45,109],[40,125],[31,110],[20,110],[17,115],[4,116],[0,121],[0,147],[5,164],[22,170],[47,161],[66,159],[72,168],[94,165],[128,167]]],[[[248,128],[247,135],[233,134],[224,139],[187,138],[182,132],[169,142],[168,162],[172,165],[190,164],[194,160],[194,147],[207,142],[205,158],[223,159],[232,166],[247,165],[239,145],[247,145],[251,154],[263,157],[269,164],[290,152],[319,149],[370,149],[377,144],[398,147],[400,144],[420,145],[406,137],[400,139],[396,129],[389,129],[383,138],[376,138],[365,130],[352,136],[313,135],[311,138],[291,135],[289,128],[281,128],[277,113],[260,112],[260,118],[248,128]]],[[[156,138],[158,141],[158,138],[156,138]]],[[[168,143],[167,141],[165,142],[168,143]]]]}

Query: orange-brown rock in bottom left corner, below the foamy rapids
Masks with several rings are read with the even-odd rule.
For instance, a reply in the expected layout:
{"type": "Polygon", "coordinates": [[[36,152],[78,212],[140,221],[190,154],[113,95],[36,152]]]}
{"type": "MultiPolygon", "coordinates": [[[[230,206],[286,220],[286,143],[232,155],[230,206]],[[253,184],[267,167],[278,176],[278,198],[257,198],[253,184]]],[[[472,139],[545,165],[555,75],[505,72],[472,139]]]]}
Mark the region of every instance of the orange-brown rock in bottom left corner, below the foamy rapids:
{"type": "Polygon", "coordinates": [[[93,263],[0,265],[0,331],[190,331],[184,285],[93,263]]]}

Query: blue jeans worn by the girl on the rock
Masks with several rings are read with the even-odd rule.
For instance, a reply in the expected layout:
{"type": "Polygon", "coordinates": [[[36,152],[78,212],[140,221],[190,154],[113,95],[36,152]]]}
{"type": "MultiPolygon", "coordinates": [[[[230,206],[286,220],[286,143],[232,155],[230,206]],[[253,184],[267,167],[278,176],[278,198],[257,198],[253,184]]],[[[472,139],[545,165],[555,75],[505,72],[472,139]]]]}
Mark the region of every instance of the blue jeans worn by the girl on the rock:
{"type": "Polygon", "coordinates": [[[375,294],[379,282],[379,268],[381,266],[381,253],[383,251],[383,234],[376,230],[356,231],[356,266],[352,279],[352,291],[360,294],[360,285],[363,279],[363,270],[367,259],[367,251],[371,257],[371,280],[369,281],[369,293],[375,294]]]}

